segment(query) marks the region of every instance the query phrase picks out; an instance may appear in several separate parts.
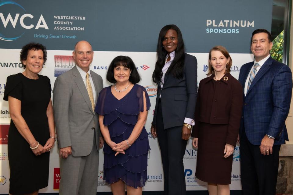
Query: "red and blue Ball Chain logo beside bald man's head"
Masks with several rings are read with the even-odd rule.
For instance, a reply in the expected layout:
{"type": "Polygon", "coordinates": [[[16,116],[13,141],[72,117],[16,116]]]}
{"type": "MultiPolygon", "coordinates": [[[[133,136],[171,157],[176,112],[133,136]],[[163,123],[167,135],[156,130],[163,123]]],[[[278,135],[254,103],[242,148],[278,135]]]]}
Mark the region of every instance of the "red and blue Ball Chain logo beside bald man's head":
{"type": "Polygon", "coordinates": [[[55,70],[54,76],[59,76],[68,70],[72,69],[75,65],[72,55],[55,55],[55,70]]]}

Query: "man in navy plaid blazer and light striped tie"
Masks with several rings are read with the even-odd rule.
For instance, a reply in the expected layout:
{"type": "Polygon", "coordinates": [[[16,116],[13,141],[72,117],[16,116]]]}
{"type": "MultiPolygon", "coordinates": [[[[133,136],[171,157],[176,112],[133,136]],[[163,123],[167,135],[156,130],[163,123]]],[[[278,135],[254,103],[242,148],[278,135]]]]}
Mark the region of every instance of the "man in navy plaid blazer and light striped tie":
{"type": "Polygon", "coordinates": [[[272,36],[265,29],[252,33],[254,62],[240,69],[244,89],[240,127],[241,183],[243,194],[276,194],[280,145],[288,140],[292,73],[272,59],[272,36]]]}

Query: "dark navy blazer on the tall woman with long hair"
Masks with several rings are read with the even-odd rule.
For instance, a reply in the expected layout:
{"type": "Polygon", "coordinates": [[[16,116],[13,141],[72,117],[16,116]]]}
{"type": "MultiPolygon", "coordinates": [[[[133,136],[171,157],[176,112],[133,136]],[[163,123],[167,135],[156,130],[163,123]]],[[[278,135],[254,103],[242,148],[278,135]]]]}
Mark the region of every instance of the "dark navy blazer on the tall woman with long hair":
{"type": "Polygon", "coordinates": [[[160,94],[162,94],[164,129],[183,126],[185,118],[194,119],[197,98],[197,60],[193,55],[185,53],[183,78],[177,79],[167,71],[163,88],[159,81],[157,81],[157,85],[157,99],[152,122],[154,126],[156,126],[160,94]]]}

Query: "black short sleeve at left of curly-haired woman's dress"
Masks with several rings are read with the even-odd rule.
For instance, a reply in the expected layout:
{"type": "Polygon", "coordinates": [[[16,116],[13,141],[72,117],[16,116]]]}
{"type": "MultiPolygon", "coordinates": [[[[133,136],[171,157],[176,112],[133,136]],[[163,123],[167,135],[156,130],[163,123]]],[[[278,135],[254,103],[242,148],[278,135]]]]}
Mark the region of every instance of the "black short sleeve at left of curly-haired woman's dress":
{"type": "Polygon", "coordinates": [[[18,73],[7,77],[3,100],[8,101],[8,96],[22,100],[23,83],[18,73]]]}

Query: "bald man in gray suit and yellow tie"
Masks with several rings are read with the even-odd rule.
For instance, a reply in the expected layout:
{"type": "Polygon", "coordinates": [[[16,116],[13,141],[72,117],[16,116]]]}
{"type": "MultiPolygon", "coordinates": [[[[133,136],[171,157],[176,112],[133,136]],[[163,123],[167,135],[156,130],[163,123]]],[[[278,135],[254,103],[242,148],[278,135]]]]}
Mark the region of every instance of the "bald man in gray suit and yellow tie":
{"type": "Polygon", "coordinates": [[[79,41],[72,52],[75,64],[56,78],[53,106],[58,148],[60,148],[60,195],[96,195],[98,186],[99,137],[98,114],[94,108],[102,77],[89,70],[92,46],[79,41]]]}

